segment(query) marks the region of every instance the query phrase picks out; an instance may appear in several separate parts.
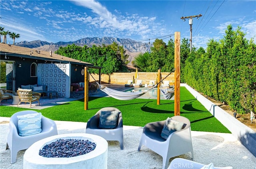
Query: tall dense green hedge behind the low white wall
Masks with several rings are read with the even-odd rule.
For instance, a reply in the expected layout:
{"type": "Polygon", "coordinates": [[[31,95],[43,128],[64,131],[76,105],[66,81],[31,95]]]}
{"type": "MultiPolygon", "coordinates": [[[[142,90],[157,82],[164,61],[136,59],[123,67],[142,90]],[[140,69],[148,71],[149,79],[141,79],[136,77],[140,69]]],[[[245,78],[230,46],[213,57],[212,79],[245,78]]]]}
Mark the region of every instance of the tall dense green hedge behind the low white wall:
{"type": "Polygon", "coordinates": [[[190,53],[182,79],[238,113],[256,112],[256,44],[240,29],[230,25],[223,39],[209,41],[205,53],[190,53]]]}

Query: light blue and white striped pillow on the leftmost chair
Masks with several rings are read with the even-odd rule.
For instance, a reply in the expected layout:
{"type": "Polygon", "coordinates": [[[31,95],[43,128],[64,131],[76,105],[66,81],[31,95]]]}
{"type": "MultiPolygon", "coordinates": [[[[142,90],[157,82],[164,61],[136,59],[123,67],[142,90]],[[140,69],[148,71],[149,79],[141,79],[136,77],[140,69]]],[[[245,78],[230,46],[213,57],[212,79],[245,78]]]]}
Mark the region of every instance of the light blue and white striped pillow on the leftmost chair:
{"type": "Polygon", "coordinates": [[[17,116],[20,136],[30,136],[42,132],[42,113],[32,113],[17,116]]]}

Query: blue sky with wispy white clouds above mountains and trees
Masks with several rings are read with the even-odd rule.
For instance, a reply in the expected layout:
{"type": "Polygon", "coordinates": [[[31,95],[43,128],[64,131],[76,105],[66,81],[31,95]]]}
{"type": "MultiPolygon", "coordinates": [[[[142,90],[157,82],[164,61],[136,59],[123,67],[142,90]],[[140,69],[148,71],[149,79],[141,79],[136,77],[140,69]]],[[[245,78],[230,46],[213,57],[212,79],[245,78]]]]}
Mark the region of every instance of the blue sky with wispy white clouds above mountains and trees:
{"type": "Polygon", "coordinates": [[[192,25],[197,48],[205,48],[209,39],[222,39],[229,24],[242,27],[246,38],[256,42],[255,0],[0,0],[0,26],[20,34],[15,42],[118,37],[152,43],[163,37],[158,39],[167,43],[167,35],[176,31],[181,39],[190,39],[189,21],[180,18],[199,14],[192,25]]]}

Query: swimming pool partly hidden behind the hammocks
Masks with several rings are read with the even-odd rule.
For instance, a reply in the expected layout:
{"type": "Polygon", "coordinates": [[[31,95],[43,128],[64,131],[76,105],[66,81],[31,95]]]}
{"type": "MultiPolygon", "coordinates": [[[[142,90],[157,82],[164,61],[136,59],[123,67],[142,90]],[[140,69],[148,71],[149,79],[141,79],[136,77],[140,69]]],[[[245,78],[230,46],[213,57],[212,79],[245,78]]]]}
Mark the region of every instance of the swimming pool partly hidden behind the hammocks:
{"type": "MultiPolygon", "coordinates": [[[[140,88],[129,88],[127,90],[124,90],[124,92],[143,92],[146,90],[148,90],[148,88],[140,87],[140,88]]],[[[149,90],[148,92],[146,92],[145,94],[143,94],[138,98],[157,99],[157,88],[152,88],[151,90],[149,90]]],[[[165,100],[162,93],[160,93],[160,99],[165,100]]],[[[174,97],[171,98],[170,100],[174,100],[174,97]]]]}

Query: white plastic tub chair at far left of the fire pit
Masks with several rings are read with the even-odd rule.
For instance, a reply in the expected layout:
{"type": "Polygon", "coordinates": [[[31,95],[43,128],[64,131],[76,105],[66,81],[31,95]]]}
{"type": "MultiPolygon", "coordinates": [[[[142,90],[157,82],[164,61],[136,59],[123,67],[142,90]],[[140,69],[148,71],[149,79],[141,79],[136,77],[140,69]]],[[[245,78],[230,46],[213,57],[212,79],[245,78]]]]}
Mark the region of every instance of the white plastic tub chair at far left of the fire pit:
{"type": "Polygon", "coordinates": [[[7,136],[6,149],[11,151],[11,163],[16,162],[17,153],[20,150],[28,149],[30,145],[38,140],[54,136],[58,134],[56,123],[44,116],[41,118],[41,128],[42,132],[30,136],[19,136],[18,134],[18,118],[17,116],[24,114],[38,113],[33,110],[24,110],[14,113],[9,122],[9,133],[7,136]]]}

